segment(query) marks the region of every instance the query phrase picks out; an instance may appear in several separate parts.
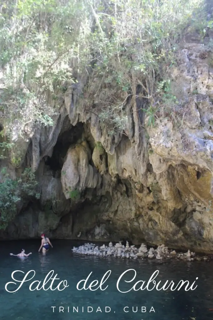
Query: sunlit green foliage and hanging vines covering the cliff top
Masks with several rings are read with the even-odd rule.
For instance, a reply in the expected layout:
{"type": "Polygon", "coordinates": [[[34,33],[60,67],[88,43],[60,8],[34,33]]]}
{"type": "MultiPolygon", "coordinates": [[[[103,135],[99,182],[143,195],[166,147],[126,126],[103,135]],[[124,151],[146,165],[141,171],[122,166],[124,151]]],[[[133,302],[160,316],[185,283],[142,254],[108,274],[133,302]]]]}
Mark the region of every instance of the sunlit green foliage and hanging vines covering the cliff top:
{"type": "Polygon", "coordinates": [[[82,103],[112,130],[122,132],[129,98],[156,105],[157,83],[175,63],[177,43],[204,4],[204,0],[4,0],[0,116],[8,125],[19,119],[20,133],[34,122],[51,125],[66,81],[85,73],[88,85],[82,103]]]}

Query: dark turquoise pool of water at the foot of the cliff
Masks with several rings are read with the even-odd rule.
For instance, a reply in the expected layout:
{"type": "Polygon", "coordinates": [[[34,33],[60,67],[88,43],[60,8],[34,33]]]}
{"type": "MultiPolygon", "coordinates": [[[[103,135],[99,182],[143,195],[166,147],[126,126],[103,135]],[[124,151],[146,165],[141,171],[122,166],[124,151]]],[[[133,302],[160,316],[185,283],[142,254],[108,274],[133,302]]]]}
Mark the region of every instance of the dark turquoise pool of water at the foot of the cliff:
{"type": "MultiPolygon", "coordinates": [[[[73,245],[82,244],[72,241],[52,241],[54,248],[49,250],[46,256],[38,253],[39,241],[14,241],[0,242],[0,320],[208,320],[213,318],[213,263],[205,262],[177,262],[169,261],[161,263],[147,260],[115,260],[97,257],[82,257],[72,254],[73,245]],[[17,254],[24,248],[26,253],[33,254],[20,260],[10,257],[9,253],[17,254]],[[127,269],[133,268],[137,272],[136,280],[148,280],[154,271],[159,270],[158,278],[165,281],[167,279],[174,282],[183,279],[193,283],[198,276],[197,289],[185,292],[178,291],[131,291],[120,293],[116,288],[118,277],[127,269]],[[66,279],[69,287],[64,291],[29,291],[29,284],[23,284],[18,292],[6,292],[4,286],[11,280],[11,273],[14,270],[21,270],[27,273],[35,270],[36,275],[33,280],[42,280],[47,273],[54,269],[60,280],[66,279]],[[93,271],[92,279],[101,280],[107,270],[112,273],[105,284],[108,288],[105,291],[78,291],[76,284],[81,279],[85,279],[93,271]],[[52,306],[55,306],[53,313],[52,306]],[[65,307],[64,313],[59,313],[59,307],[65,307]],[[70,312],[67,312],[67,307],[70,312]],[[93,308],[93,312],[82,313],[80,308],[87,306],[93,308]],[[105,313],[104,308],[111,308],[109,313],[105,313]],[[133,313],[132,308],[138,312],[133,313]],[[146,307],[147,312],[141,313],[141,306],[146,307]],[[155,313],[148,311],[153,306],[155,313]],[[79,307],[79,312],[72,312],[72,308],[79,307]],[[100,307],[100,311],[95,312],[100,307]],[[124,312],[124,307],[126,311],[124,312]],[[211,310],[212,309],[212,310],[211,310]]],[[[16,276],[18,279],[18,276],[16,276]]],[[[130,276],[126,276],[126,280],[130,276]]],[[[33,281],[32,280],[32,281],[33,281]]],[[[158,280],[159,281],[159,280],[158,280]]],[[[58,284],[58,282],[57,282],[58,284]]],[[[120,286],[122,291],[127,291],[132,285],[126,283],[120,286]]],[[[12,286],[8,287],[12,290],[12,286]]],[[[14,289],[13,289],[14,290],[14,289]]],[[[61,309],[62,310],[62,309],[61,309]]],[[[91,308],[90,308],[91,310],[91,308]]],[[[109,309],[108,309],[109,310],[109,309]]]]}

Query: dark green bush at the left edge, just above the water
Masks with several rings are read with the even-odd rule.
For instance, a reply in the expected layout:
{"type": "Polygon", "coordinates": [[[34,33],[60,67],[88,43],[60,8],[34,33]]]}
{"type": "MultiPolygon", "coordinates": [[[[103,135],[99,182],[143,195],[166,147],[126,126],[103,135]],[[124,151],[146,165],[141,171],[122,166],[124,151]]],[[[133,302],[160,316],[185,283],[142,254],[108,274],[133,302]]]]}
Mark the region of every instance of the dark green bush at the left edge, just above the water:
{"type": "Polygon", "coordinates": [[[38,182],[31,169],[25,169],[19,179],[11,179],[6,169],[1,170],[0,229],[5,229],[17,213],[17,205],[26,197],[40,198],[38,182]]]}

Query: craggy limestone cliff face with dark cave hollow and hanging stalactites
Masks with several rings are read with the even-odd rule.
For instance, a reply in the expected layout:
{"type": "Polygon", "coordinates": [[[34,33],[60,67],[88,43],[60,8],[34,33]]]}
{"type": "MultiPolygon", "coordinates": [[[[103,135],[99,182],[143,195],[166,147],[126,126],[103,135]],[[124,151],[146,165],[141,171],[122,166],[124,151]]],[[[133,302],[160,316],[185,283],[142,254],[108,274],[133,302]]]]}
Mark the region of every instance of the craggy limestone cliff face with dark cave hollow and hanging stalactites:
{"type": "Polygon", "coordinates": [[[110,135],[78,102],[85,78],[68,86],[53,127],[37,129],[24,144],[25,162],[41,184],[40,201],[28,204],[1,238],[47,232],[212,251],[213,66],[205,50],[182,45],[178,67],[171,68],[178,103],[164,103],[152,127],[137,111],[146,101],[130,102],[125,134],[110,135]]]}

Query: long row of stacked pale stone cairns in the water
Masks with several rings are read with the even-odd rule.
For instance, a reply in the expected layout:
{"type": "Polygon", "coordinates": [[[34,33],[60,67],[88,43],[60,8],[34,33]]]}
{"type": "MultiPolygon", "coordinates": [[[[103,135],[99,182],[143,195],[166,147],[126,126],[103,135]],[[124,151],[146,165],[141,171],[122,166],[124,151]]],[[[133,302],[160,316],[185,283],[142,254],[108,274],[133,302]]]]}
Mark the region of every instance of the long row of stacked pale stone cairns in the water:
{"type": "Polygon", "coordinates": [[[146,244],[141,244],[140,248],[136,248],[134,245],[129,245],[126,241],[126,246],[122,245],[121,241],[115,245],[112,242],[109,245],[103,244],[102,246],[95,245],[94,243],[85,243],[79,247],[73,247],[73,253],[81,255],[94,255],[99,257],[114,258],[126,258],[126,259],[176,259],[185,261],[209,261],[212,257],[208,256],[196,256],[194,252],[188,250],[186,253],[176,253],[174,250],[169,250],[164,244],[159,245],[156,249],[147,249],[146,244]]]}

